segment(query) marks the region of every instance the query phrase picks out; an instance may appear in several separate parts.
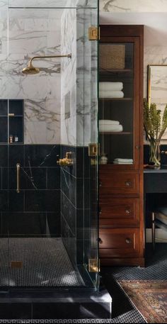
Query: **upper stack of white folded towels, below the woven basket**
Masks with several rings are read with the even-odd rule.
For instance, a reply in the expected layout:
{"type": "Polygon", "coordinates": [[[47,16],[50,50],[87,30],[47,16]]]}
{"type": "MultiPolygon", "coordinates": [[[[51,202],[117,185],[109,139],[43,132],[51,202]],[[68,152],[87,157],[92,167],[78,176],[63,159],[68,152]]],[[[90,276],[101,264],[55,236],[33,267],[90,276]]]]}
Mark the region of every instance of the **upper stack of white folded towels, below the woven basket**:
{"type": "Polygon", "coordinates": [[[100,82],[99,97],[100,98],[123,98],[122,82],[100,82]]]}

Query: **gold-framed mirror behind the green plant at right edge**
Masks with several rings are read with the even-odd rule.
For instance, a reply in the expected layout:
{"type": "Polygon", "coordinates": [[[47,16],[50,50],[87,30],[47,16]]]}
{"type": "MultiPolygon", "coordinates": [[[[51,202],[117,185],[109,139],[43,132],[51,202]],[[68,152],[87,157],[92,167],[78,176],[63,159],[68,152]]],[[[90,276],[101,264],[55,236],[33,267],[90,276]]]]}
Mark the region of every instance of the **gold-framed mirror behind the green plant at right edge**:
{"type": "MultiPolygon", "coordinates": [[[[167,104],[167,65],[148,65],[147,100],[163,113],[167,104]]],[[[167,140],[167,130],[161,140],[167,140]]]]}

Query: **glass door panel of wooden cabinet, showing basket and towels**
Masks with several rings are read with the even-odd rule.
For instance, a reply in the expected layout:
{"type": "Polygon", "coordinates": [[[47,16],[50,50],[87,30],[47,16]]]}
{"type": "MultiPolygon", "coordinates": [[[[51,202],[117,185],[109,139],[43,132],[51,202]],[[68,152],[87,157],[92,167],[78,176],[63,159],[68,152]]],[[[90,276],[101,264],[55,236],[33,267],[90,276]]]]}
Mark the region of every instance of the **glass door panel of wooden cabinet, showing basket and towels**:
{"type": "Polygon", "coordinates": [[[100,164],[134,163],[134,44],[100,44],[100,164]]]}

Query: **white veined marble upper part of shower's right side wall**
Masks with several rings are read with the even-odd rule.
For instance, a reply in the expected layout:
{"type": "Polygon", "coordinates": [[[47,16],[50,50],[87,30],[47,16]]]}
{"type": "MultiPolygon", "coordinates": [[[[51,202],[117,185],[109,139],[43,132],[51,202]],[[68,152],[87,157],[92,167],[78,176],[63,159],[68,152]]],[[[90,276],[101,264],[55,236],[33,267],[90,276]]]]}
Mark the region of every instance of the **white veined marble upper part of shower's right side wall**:
{"type": "Polygon", "coordinates": [[[97,42],[90,42],[86,31],[91,24],[96,25],[96,13],[93,9],[77,9],[71,13],[66,10],[62,16],[62,51],[70,47],[72,53],[69,66],[62,67],[62,144],[87,146],[95,142],[97,42]],[[70,94],[68,118],[67,94],[70,94]]]}

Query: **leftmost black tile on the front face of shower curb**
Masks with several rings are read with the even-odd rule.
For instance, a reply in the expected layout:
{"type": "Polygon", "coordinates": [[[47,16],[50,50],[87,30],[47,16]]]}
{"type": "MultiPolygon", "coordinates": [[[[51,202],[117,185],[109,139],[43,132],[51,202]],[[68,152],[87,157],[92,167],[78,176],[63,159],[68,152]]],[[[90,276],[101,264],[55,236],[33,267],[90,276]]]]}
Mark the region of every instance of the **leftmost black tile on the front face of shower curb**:
{"type": "Polygon", "coordinates": [[[1,319],[30,319],[30,303],[0,303],[1,319]]]}

